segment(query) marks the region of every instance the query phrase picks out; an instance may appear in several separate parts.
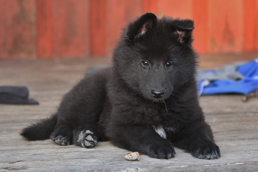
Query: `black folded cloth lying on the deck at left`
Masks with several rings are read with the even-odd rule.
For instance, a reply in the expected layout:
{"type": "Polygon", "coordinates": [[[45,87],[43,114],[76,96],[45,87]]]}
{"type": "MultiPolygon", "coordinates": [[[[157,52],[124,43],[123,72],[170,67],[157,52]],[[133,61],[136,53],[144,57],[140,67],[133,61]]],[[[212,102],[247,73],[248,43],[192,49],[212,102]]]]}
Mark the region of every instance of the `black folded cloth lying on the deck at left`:
{"type": "Polygon", "coordinates": [[[24,86],[0,86],[1,104],[39,104],[36,100],[28,99],[29,90],[24,86]]]}

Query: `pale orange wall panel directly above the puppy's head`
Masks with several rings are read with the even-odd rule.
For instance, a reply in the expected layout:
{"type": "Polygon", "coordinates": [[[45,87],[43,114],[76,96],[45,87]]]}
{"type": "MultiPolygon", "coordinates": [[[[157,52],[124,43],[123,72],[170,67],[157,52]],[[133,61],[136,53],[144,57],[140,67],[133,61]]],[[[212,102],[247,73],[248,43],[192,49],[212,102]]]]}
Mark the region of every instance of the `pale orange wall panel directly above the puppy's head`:
{"type": "Polygon", "coordinates": [[[192,18],[192,0],[157,0],[157,15],[192,18]]]}

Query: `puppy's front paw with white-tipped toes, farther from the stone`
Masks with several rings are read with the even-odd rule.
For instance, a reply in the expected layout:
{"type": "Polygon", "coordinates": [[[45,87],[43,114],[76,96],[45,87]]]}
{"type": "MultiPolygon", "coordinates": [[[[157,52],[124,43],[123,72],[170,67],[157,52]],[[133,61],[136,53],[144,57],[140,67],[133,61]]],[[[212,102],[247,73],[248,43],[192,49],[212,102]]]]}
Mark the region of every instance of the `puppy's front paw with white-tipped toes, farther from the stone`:
{"type": "Polygon", "coordinates": [[[212,141],[193,146],[191,153],[200,159],[217,159],[220,157],[220,148],[212,141]]]}

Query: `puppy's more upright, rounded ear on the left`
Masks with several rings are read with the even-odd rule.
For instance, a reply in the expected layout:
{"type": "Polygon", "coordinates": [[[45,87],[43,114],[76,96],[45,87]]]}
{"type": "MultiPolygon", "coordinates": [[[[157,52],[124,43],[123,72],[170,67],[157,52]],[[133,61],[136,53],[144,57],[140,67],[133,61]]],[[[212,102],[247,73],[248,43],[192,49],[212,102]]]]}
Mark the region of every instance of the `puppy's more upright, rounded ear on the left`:
{"type": "Polygon", "coordinates": [[[146,13],[136,21],[128,24],[125,29],[125,37],[131,41],[142,37],[157,22],[157,17],[153,13],[146,13]]]}

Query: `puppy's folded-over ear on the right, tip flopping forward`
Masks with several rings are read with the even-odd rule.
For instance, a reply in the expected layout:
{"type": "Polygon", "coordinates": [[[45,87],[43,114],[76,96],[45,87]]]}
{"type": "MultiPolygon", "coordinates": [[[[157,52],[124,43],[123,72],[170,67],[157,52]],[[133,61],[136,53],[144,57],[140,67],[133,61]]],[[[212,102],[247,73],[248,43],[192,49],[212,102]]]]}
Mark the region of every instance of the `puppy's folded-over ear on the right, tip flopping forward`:
{"type": "Polygon", "coordinates": [[[192,40],[194,22],[190,19],[176,19],[171,23],[170,29],[176,34],[180,43],[189,43],[192,40]]]}

